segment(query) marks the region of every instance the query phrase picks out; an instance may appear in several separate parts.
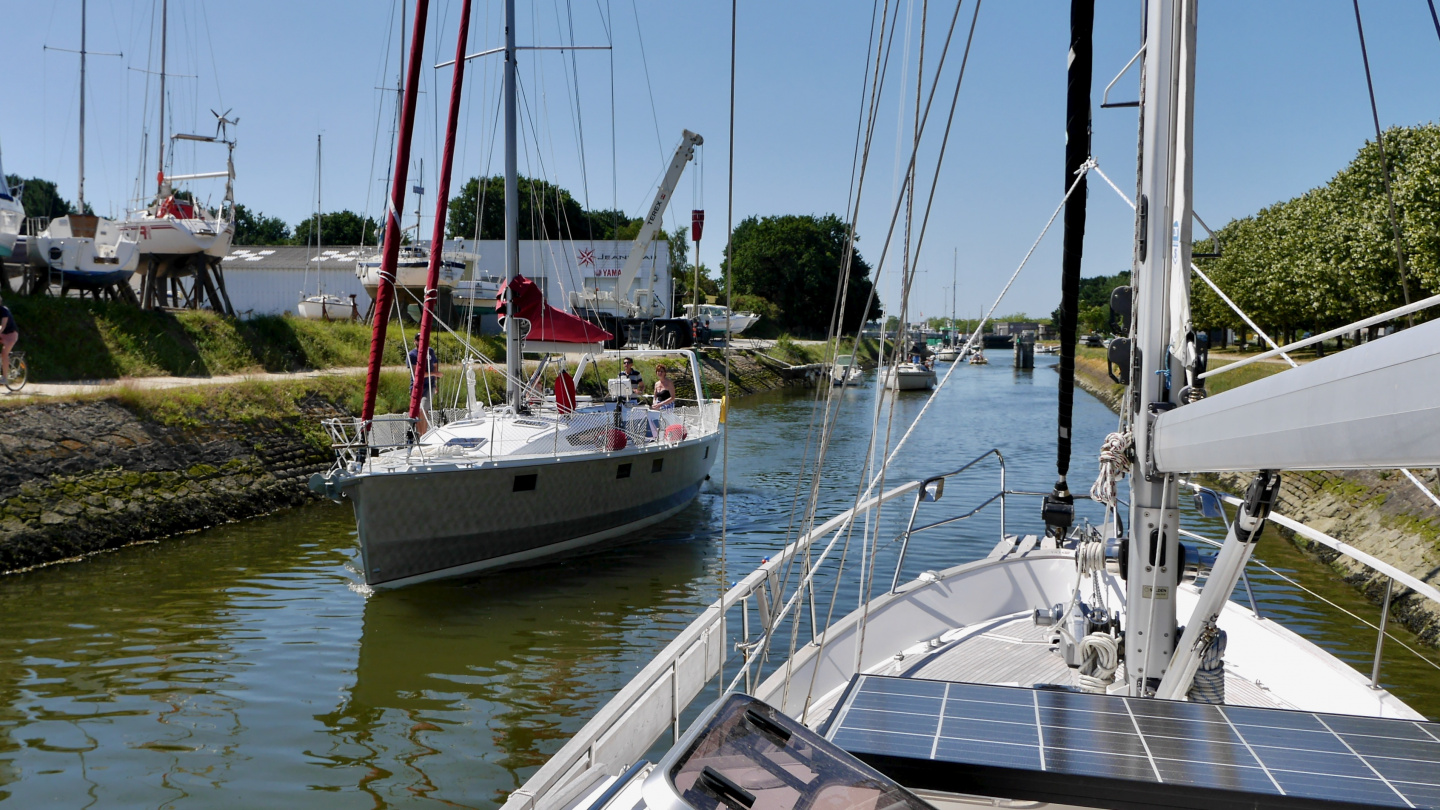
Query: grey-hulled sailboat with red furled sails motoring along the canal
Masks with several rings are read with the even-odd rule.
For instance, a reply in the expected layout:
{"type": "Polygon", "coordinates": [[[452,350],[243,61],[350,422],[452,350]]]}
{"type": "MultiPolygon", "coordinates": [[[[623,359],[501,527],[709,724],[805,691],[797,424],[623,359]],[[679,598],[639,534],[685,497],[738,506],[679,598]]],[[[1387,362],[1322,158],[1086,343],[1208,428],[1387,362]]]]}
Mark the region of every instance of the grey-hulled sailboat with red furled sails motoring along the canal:
{"type": "MultiPolygon", "coordinates": [[[[468,6],[467,6],[468,9],[468,6]]],[[[409,417],[373,417],[379,353],[372,355],[366,409],[360,419],[325,422],[338,454],[336,467],[311,480],[311,489],[354,504],[364,581],[399,587],[517,565],[602,542],[619,542],[635,530],[684,509],[700,491],[719,455],[721,405],[706,396],[700,365],[691,352],[625,352],[629,357],[684,357],[693,396],[678,393],[647,406],[629,379],[606,380],[600,399],[579,396],[575,379],[598,369],[595,359],[613,336],[544,303],[539,287],[518,274],[517,120],[514,0],[505,3],[505,284],[500,290],[505,317],[505,401],[482,405],[477,373],[491,366],[480,356],[462,363],[464,402],[441,408],[431,392],[412,393],[409,417]],[[541,355],[539,369],[524,376],[521,357],[541,355]],[[580,356],[572,376],[566,356],[580,356]],[[553,393],[544,372],[557,368],[553,393]],[[423,415],[423,421],[419,418],[423,415]],[[428,425],[428,430],[426,430],[428,425]],[[419,432],[420,435],[413,435],[419,432]]],[[[423,26],[416,26],[423,33],[423,26]]],[[[456,85],[462,81],[467,20],[459,23],[456,85]]],[[[405,110],[413,115],[418,61],[410,63],[405,110]]],[[[446,154],[455,137],[458,92],[452,95],[446,154]]],[[[402,121],[397,166],[406,164],[412,121],[402,121]]],[[[449,166],[439,173],[435,239],[442,236],[449,166]]],[[[393,182],[392,206],[403,200],[406,177],[393,182]]],[[[397,206],[396,206],[397,208],[397,206]]],[[[386,310],[402,284],[399,223],[390,218],[380,259],[374,343],[383,344],[386,310]],[[384,284],[395,278],[393,284],[384,284]]],[[[422,281],[433,301],[439,257],[422,281]]],[[[425,366],[429,323],[426,308],[416,343],[425,366]]],[[[677,369],[678,372],[680,369],[677,369]]],[[[419,376],[425,376],[418,369],[419,376]]]]}

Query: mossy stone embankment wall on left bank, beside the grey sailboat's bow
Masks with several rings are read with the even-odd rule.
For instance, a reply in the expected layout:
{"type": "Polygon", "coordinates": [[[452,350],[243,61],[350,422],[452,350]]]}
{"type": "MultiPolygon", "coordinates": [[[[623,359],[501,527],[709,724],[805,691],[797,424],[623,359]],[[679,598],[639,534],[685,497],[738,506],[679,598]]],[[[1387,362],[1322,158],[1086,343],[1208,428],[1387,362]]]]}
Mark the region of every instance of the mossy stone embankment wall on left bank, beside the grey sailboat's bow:
{"type": "MultiPolygon", "coordinates": [[[[118,401],[46,402],[0,419],[0,571],[203,529],[294,506],[330,466],[294,419],[168,427],[118,401]]],[[[304,419],[307,424],[301,424],[304,419]]]]}

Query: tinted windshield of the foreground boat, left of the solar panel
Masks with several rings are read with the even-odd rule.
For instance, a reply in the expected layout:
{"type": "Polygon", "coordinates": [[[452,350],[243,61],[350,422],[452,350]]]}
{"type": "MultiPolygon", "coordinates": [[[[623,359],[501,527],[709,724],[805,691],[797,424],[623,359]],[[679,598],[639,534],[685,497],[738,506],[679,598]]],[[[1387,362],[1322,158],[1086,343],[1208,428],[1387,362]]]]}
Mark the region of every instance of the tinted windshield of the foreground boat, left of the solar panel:
{"type": "Polygon", "coordinates": [[[668,775],[694,810],[933,810],[747,695],[726,699],[668,775]]]}

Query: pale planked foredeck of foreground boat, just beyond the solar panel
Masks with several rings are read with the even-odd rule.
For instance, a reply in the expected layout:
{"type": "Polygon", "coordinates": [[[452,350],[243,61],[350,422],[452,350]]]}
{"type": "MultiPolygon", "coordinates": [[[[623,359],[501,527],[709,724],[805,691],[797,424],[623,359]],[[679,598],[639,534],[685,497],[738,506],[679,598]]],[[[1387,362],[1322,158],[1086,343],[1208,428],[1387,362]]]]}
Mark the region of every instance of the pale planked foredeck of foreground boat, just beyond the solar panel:
{"type": "MultiPolygon", "coordinates": [[[[904,677],[1011,686],[1060,685],[1079,687],[1077,670],[1066,666],[1058,651],[1054,627],[1037,627],[1030,617],[999,623],[959,638],[903,670],[904,677]]],[[[1116,673],[1116,687],[1125,683],[1125,670],[1116,673]]],[[[1266,709],[1293,709],[1277,695],[1225,673],[1225,703],[1266,709]]]]}

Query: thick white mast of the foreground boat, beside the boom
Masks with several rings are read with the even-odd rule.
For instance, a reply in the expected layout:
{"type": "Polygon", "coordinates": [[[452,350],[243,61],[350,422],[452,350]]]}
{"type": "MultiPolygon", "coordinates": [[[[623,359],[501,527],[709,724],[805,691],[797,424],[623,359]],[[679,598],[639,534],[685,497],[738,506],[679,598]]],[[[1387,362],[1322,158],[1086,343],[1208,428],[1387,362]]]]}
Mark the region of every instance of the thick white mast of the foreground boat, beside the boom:
{"type": "Polygon", "coordinates": [[[1195,0],[1152,0],[1145,20],[1140,86],[1140,186],[1136,205],[1135,317],[1130,398],[1135,437],[1130,477],[1125,672],[1130,695],[1152,695],[1175,643],[1179,496],[1175,476],[1155,471],[1149,424],[1175,408],[1184,366],[1169,350],[1168,285],[1189,272],[1195,0]],[[1174,380],[1174,382],[1172,382],[1174,380]]]}

